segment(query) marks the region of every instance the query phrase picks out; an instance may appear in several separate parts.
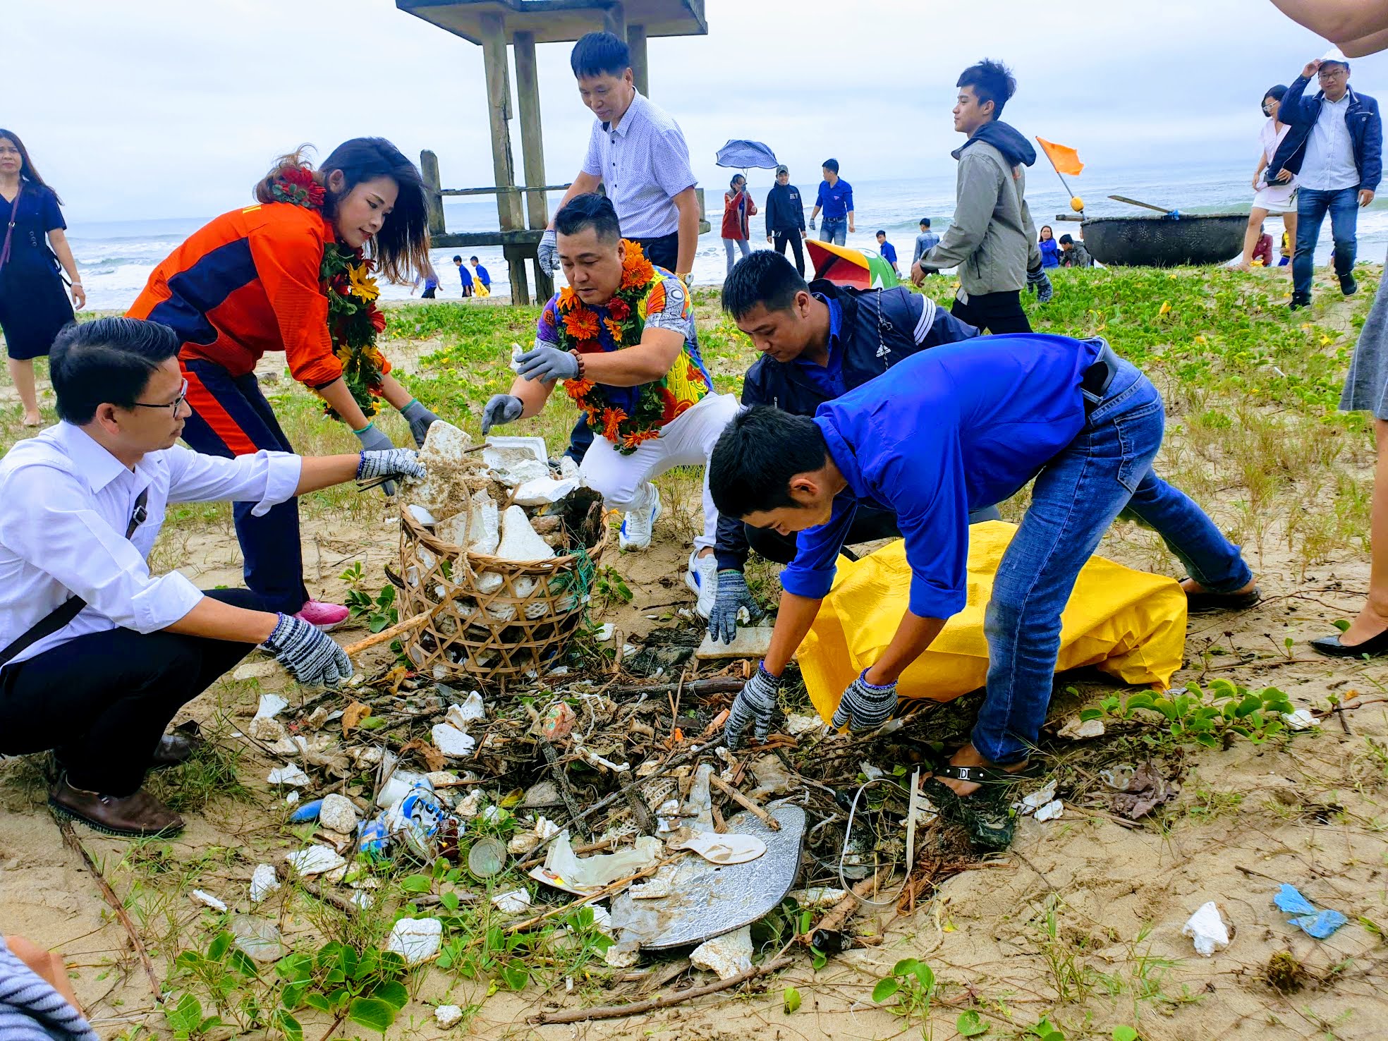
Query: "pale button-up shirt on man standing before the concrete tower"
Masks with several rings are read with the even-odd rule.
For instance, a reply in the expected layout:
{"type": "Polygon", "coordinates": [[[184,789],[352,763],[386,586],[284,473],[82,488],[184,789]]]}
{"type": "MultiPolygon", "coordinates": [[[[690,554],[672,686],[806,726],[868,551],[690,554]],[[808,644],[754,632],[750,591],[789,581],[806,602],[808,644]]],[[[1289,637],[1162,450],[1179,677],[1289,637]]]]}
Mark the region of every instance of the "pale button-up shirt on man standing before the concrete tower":
{"type": "Polygon", "coordinates": [[[593,121],[583,172],[602,182],[627,239],[677,232],[675,196],[698,183],[680,125],[640,90],[616,126],[593,121]]]}

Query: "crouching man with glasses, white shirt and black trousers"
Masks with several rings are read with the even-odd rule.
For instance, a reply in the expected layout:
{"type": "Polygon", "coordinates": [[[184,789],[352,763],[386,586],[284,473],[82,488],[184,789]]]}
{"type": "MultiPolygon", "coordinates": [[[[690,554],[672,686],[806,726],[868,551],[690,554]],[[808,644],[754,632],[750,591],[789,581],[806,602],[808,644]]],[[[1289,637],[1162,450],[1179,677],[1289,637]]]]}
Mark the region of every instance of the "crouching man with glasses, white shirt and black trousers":
{"type": "Polygon", "coordinates": [[[0,752],[51,748],[50,805],[117,836],[182,829],[144,775],[189,756],[165,727],[253,647],[304,684],[351,675],[332,637],[260,609],[248,590],[151,576],[168,504],[244,501],[262,514],[353,479],[423,476],[404,448],[226,459],[176,446],[190,412],[178,348],[154,322],[68,326],[50,354],[61,422],[0,459],[0,752]]]}

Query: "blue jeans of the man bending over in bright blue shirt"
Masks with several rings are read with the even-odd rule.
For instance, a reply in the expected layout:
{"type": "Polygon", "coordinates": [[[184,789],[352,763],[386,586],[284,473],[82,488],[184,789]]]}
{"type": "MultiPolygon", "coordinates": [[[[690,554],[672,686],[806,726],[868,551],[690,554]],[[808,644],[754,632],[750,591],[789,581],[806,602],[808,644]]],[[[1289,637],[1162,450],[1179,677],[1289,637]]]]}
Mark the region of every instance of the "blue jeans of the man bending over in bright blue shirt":
{"type": "Polygon", "coordinates": [[[1034,748],[1051,704],[1060,612],[1119,514],[1155,527],[1190,576],[1212,593],[1252,582],[1238,547],[1184,493],[1152,473],[1165,422],[1156,387],[1120,362],[1108,396],[1037,476],[984,615],[988,693],[973,745],[985,759],[1019,762],[1034,748]]]}

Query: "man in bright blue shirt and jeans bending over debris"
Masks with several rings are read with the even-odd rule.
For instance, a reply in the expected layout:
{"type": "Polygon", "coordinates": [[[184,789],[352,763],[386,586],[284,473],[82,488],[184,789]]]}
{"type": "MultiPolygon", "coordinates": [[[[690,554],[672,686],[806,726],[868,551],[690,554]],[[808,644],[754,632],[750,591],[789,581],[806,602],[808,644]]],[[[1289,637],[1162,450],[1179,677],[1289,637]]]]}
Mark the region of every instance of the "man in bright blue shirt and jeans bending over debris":
{"type": "Polygon", "coordinates": [[[766,737],[780,677],[829,593],[859,504],[895,511],[912,570],[897,634],[833,716],[834,726],[869,730],[895,709],[905,668],[965,607],[969,511],[1034,477],[985,613],[988,682],[973,740],[926,786],[976,845],[1005,848],[1015,826],[1008,786],[973,793],[1027,763],[1051,701],[1060,612],[1120,512],[1156,529],[1185,565],[1192,608],[1258,601],[1239,548],[1152,472],[1163,423],[1156,387],[1102,339],[1026,333],[913,354],[813,419],[743,412],[713,448],[713,502],[756,527],[798,532],[798,547],[781,572],[770,650],[733,702],[729,747],[748,723],[766,737]]]}

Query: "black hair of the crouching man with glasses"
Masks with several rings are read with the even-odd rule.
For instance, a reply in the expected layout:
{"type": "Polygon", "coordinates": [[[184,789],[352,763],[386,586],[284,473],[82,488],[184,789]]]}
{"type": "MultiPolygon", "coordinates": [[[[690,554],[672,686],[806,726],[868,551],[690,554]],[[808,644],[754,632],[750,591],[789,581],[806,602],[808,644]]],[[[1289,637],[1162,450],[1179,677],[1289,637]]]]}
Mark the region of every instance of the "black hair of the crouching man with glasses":
{"type": "Polygon", "coordinates": [[[64,326],[49,353],[58,418],[82,426],[103,404],[133,408],[154,371],[178,355],[178,333],[139,318],[64,326]]]}

